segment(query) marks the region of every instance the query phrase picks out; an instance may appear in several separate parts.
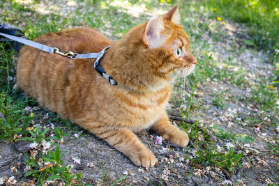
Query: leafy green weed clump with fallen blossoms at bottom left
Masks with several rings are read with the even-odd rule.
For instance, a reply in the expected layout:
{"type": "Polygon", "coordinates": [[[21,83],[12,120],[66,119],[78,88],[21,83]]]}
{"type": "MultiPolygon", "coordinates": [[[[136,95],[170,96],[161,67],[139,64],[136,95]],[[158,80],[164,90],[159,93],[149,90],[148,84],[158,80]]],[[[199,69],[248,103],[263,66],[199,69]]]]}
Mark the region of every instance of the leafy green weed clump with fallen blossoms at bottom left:
{"type": "MultiPolygon", "coordinates": [[[[27,140],[37,141],[40,144],[40,141],[43,140],[42,137],[47,133],[48,128],[46,128],[43,132],[40,132],[40,127],[36,128],[36,134],[31,132],[32,138],[27,138],[27,140]],[[38,137],[40,136],[40,137],[38,137]],[[40,140],[40,141],[39,141],[40,140]]],[[[61,139],[67,136],[63,134],[56,127],[54,128],[55,137],[48,139],[49,141],[56,140],[56,143],[52,143],[52,145],[56,144],[56,148],[54,151],[50,150],[48,153],[40,152],[38,155],[29,155],[29,157],[25,157],[24,161],[30,167],[30,170],[24,174],[24,177],[32,176],[33,180],[36,180],[37,185],[44,185],[47,181],[54,181],[54,183],[58,184],[60,182],[65,183],[66,185],[77,185],[81,184],[80,173],[73,173],[70,169],[72,167],[70,165],[66,166],[62,160],[63,152],[60,150],[61,139]],[[44,164],[44,166],[42,165],[44,164]]],[[[47,140],[47,138],[45,139],[47,140]]]]}

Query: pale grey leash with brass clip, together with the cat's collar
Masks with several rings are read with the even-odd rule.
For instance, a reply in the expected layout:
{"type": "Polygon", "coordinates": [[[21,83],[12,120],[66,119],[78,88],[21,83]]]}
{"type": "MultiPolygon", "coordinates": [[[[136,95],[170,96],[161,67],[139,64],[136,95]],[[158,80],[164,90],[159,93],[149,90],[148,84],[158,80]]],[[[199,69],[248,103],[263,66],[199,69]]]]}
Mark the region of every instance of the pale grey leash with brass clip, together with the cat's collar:
{"type": "Polygon", "coordinates": [[[48,46],[40,44],[38,42],[33,42],[31,40],[27,40],[27,39],[20,38],[20,37],[17,37],[17,36],[12,36],[12,35],[9,35],[9,34],[6,34],[6,33],[1,33],[0,32],[0,36],[4,36],[4,37],[9,38],[11,40],[21,42],[24,45],[29,45],[30,47],[34,47],[36,49],[40,49],[40,50],[43,50],[43,51],[48,52],[48,53],[56,53],[56,54],[59,54],[61,56],[67,56],[70,59],[77,59],[77,58],[96,59],[96,61],[94,62],[94,68],[97,70],[97,72],[100,75],[102,75],[103,77],[105,77],[105,79],[109,80],[110,84],[112,84],[112,85],[117,84],[117,82],[114,81],[114,79],[110,75],[107,75],[105,73],[105,70],[103,70],[103,68],[101,68],[100,65],[99,65],[99,61],[103,57],[103,55],[105,54],[105,50],[108,49],[110,46],[105,47],[101,52],[98,52],[98,53],[77,54],[77,53],[74,53],[74,52],[71,52],[71,51],[63,53],[63,52],[60,52],[59,49],[56,48],[56,47],[48,47],[48,46]]]}

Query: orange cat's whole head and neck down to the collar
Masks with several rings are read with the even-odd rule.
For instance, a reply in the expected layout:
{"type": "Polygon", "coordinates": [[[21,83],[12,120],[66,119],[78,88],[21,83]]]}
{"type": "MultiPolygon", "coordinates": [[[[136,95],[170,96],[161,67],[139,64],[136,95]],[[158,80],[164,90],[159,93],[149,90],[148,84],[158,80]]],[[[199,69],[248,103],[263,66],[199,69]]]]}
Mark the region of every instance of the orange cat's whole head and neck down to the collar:
{"type": "Polygon", "coordinates": [[[135,26],[114,42],[105,70],[137,91],[158,91],[176,75],[189,75],[197,59],[190,52],[189,38],[179,24],[178,7],[163,16],[135,26]]]}

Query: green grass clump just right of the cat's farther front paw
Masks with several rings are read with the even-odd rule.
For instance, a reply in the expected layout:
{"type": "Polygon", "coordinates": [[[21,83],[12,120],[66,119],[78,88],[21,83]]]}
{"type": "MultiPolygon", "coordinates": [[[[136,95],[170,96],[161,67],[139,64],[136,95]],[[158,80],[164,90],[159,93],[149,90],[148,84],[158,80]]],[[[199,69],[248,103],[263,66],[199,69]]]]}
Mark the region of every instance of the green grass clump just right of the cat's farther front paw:
{"type": "MultiPolygon", "coordinates": [[[[188,135],[193,140],[191,146],[195,149],[189,148],[186,150],[186,158],[193,162],[193,164],[198,164],[204,168],[206,166],[217,166],[231,172],[239,169],[243,162],[243,153],[234,148],[218,149],[220,146],[216,144],[216,141],[212,141],[208,134],[209,128],[200,129],[197,125],[200,125],[199,121],[188,127],[184,125],[186,131],[190,130],[188,135]]],[[[252,137],[246,134],[239,135],[233,132],[227,132],[223,128],[218,127],[218,125],[214,125],[214,131],[216,132],[215,137],[217,139],[232,141],[233,144],[238,144],[239,142],[246,144],[254,141],[252,137]]]]}

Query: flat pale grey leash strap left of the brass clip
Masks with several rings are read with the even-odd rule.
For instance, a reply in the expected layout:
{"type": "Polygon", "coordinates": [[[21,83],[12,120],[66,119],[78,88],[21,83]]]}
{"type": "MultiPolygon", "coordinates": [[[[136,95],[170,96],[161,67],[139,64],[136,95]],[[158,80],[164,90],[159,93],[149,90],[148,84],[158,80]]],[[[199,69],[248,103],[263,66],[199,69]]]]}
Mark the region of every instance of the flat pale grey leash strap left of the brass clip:
{"type": "Polygon", "coordinates": [[[12,35],[9,35],[9,34],[6,34],[6,33],[0,33],[0,35],[4,36],[6,38],[9,38],[11,40],[15,40],[17,42],[21,42],[24,45],[29,45],[29,46],[34,47],[36,49],[40,49],[40,50],[43,50],[43,51],[48,52],[48,53],[54,53],[54,48],[47,47],[46,45],[40,44],[38,42],[33,42],[31,40],[27,40],[27,39],[20,38],[20,37],[17,37],[17,36],[12,36],[12,35]]]}

